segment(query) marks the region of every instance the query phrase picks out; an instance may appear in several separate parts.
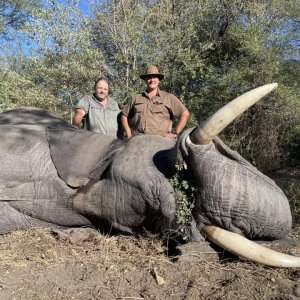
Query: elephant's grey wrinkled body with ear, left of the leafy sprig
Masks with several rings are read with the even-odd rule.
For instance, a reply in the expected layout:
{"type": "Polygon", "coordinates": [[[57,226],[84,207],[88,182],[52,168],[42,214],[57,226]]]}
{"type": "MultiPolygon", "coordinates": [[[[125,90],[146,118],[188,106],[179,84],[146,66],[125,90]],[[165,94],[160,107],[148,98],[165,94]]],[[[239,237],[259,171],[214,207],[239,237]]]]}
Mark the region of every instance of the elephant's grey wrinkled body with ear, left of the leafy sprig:
{"type": "Polygon", "coordinates": [[[0,124],[1,233],[57,225],[138,233],[174,224],[173,189],[153,162],[172,140],[139,136],[114,145],[34,108],[0,114],[0,124]]]}

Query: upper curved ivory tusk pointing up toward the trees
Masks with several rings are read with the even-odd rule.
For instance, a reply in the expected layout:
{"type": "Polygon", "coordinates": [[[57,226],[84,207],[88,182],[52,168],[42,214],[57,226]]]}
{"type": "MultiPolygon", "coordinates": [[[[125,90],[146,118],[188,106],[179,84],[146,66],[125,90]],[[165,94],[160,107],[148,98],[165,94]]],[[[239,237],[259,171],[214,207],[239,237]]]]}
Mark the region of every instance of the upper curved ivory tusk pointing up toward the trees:
{"type": "Polygon", "coordinates": [[[277,83],[266,84],[235,98],[194,130],[190,134],[191,141],[196,145],[209,144],[235,118],[275,90],[277,86],[277,83]]]}

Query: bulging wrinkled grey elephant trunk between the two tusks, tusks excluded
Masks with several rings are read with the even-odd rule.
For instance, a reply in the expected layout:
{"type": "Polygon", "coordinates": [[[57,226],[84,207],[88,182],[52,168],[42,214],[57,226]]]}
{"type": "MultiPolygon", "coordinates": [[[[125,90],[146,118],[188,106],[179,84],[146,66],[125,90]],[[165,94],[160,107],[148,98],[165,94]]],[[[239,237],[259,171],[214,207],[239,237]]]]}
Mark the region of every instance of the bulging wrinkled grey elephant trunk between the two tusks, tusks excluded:
{"type": "Polygon", "coordinates": [[[198,228],[213,224],[251,239],[282,239],[289,233],[289,203],[273,180],[218,138],[200,146],[185,142],[183,149],[199,183],[193,210],[198,228]]]}

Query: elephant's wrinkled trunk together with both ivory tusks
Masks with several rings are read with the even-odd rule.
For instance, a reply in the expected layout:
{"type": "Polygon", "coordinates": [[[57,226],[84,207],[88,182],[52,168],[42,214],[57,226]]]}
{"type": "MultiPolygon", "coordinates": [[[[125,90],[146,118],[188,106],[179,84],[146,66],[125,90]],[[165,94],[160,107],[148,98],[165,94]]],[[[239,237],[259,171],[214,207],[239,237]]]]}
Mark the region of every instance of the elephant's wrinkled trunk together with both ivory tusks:
{"type": "Polygon", "coordinates": [[[278,257],[243,238],[284,238],[292,225],[289,202],[273,180],[216,137],[276,87],[277,84],[265,85],[234,99],[203,125],[185,132],[179,148],[198,186],[193,217],[207,238],[253,261],[299,266],[300,259],[282,254],[278,257]]]}

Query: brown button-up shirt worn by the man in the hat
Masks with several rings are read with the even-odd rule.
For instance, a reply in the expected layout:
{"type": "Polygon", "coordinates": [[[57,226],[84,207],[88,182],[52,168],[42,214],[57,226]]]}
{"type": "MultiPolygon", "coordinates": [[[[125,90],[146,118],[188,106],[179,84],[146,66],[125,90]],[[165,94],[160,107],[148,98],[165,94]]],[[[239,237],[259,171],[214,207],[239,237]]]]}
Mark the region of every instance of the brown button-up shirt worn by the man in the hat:
{"type": "Polygon", "coordinates": [[[151,100],[146,92],[133,96],[122,114],[129,119],[133,134],[164,135],[172,132],[174,117],[179,118],[184,111],[187,108],[177,97],[158,90],[151,100]]]}

